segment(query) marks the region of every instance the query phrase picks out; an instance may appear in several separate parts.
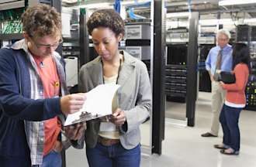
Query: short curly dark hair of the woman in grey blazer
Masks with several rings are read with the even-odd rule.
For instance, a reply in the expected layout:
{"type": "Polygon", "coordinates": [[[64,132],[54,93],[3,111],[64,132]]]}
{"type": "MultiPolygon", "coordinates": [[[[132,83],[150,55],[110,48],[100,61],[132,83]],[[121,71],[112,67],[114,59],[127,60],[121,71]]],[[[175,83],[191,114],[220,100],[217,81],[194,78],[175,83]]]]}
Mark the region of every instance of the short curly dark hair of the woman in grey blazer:
{"type": "Polygon", "coordinates": [[[100,9],[92,13],[87,22],[89,34],[98,27],[106,27],[112,30],[118,36],[124,35],[124,22],[118,12],[113,9],[100,9]]]}

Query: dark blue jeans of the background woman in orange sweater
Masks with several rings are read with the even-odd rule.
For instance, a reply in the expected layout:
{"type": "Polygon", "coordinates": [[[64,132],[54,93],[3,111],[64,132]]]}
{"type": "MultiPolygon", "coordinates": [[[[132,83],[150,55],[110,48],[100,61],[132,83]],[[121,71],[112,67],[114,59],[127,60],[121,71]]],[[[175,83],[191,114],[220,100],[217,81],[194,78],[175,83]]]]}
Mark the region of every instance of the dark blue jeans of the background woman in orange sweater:
{"type": "Polygon", "coordinates": [[[240,150],[240,130],[238,120],[242,108],[229,107],[223,104],[220,112],[220,124],[223,128],[223,144],[233,148],[234,151],[240,150]]]}

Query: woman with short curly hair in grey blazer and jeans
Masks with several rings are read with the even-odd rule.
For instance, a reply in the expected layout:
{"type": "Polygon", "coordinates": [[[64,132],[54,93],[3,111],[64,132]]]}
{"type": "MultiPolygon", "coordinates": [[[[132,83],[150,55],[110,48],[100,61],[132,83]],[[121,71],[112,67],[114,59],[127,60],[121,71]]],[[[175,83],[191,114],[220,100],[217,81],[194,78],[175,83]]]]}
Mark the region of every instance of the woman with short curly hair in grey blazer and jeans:
{"type": "MultiPolygon", "coordinates": [[[[139,167],[139,126],[147,120],[151,110],[147,67],[119,50],[119,42],[124,35],[124,23],[119,13],[112,9],[93,12],[87,26],[99,56],[81,67],[81,92],[88,92],[102,83],[121,86],[110,119],[87,121],[85,143],[88,164],[92,167],[139,167]]],[[[100,105],[101,101],[98,103],[100,105]]]]}

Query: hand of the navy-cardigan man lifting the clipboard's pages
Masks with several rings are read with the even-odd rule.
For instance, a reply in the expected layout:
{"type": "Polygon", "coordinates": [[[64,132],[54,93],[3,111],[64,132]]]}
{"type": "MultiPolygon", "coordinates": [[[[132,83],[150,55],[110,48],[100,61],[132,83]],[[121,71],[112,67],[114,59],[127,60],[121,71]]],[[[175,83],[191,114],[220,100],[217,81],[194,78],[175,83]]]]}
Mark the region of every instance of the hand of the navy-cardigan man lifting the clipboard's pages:
{"type": "Polygon", "coordinates": [[[63,114],[72,114],[81,109],[85,102],[85,94],[68,94],[61,97],[61,111],[63,114]]]}

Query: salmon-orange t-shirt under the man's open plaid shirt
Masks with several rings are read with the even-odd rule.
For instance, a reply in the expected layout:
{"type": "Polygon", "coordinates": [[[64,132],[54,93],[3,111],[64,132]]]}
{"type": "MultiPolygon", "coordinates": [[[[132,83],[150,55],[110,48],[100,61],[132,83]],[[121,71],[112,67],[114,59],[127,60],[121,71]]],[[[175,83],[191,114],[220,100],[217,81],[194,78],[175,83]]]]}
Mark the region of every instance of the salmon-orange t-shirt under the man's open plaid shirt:
{"type": "MultiPolygon", "coordinates": [[[[60,80],[57,75],[56,64],[51,56],[40,57],[33,55],[43,83],[44,98],[56,97],[60,94],[60,80]]],[[[61,131],[61,124],[57,117],[44,121],[43,155],[47,155],[55,145],[57,136],[61,131]]]]}

